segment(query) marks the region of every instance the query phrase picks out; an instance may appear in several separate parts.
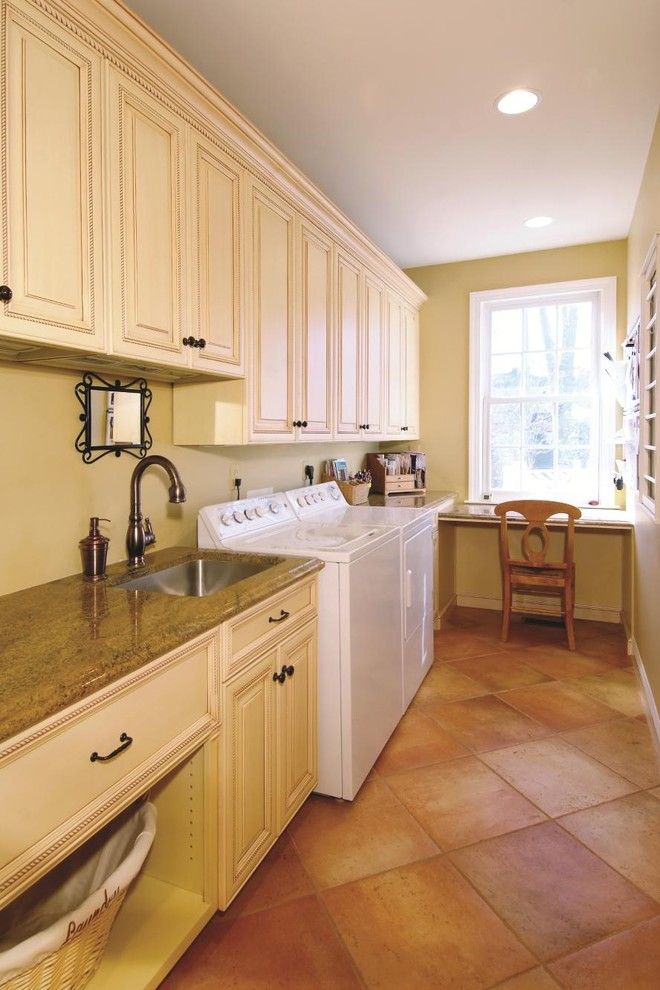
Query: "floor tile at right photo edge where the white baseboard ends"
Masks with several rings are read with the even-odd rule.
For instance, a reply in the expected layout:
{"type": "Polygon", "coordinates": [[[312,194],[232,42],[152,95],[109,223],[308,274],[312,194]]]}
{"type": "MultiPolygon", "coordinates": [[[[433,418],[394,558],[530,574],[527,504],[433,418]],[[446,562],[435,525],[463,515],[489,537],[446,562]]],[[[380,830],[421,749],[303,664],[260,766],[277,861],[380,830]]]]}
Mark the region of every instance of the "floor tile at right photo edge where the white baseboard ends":
{"type": "Polygon", "coordinates": [[[636,718],[591,725],[562,736],[638,787],[660,784],[660,751],[648,726],[636,718]]]}

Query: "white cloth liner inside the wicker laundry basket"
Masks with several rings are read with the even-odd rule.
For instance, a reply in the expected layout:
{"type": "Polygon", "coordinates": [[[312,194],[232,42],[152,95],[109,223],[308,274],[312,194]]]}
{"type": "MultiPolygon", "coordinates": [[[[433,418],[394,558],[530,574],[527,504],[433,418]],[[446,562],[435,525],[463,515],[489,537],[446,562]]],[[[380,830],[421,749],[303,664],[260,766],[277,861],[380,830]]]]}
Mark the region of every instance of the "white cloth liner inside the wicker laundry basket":
{"type": "MultiPolygon", "coordinates": [[[[0,985],[57,952],[110,908],[139,873],[155,834],[156,808],[146,802],[40,903],[30,904],[28,898],[27,910],[19,907],[9,931],[0,932],[0,985]]],[[[75,853],[60,867],[71,861],[76,863],[75,853]]]]}

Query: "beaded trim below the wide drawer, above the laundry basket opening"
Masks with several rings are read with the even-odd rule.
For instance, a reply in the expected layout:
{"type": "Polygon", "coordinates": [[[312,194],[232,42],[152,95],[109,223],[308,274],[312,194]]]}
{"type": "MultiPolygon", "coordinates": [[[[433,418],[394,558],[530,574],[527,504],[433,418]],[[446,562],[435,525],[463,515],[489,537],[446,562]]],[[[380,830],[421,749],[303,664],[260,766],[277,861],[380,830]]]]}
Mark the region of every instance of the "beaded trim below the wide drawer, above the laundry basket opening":
{"type": "MultiPolygon", "coordinates": [[[[141,787],[148,781],[151,783],[156,783],[156,781],[159,780],[160,777],[164,776],[168,770],[174,769],[174,767],[178,766],[179,763],[183,762],[181,759],[182,754],[183,759],[185,759],[187,756],[191,755],[201,743],[210,738],[212,726],[212,720],[207,717],[203,721],[203,724],[199,725],[199,727],[195,729],[194,733],[182,733],[177,736],[177,738],[172,741],[167,751],[156,763],[149,763],[148,767],[143,770],[142,773],[136,777],[131,777],[129,782],[124,787],[120,788],[118,791],[113,791],[112,795],[107,798],[107,800],[87,814],[82,821],[79,821],[73,828],[65,831],[59,836],[58,839],[55,840],[55,842],[51,843],[46,849],[42,849],[40,853],[32,857],[18,870],[3,880],[0,883],[0,895],[2,895],[9,888],[13,887],[16,883],[25,879],[28,874],[34,872],[34,870],[45,860],[51,859],[62,849],[63,846],[69,845],[77,836],[84,837],[85,835],[92,834],[92,826],[98,822],[99,818],[103,819],[107,816],[108,812],[116,808],[116,806],[123,802],[126,798],[129,798],[130,803],[132,795],[138,796],[141,787]]],[[[117,813],[119,813],[119,811],[121,811],[121,808],[117,809],[117,813]]],[[[110,820],[109,817],[108,820],[110,820]]]]}

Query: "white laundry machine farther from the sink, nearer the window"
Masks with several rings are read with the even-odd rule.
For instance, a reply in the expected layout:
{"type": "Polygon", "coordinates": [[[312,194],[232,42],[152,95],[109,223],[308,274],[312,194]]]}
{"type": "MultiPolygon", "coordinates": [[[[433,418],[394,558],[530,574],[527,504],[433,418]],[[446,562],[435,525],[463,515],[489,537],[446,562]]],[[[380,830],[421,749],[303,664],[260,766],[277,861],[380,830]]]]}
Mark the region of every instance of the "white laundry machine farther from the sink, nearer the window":
{"type": "Polygon", "coordinates": [[[300,519],[324,519],[328,517],[328,505],[341,505],[345,509],[342,520],[347,523],[393,526],[398,530],[403,714],[433,663],[433,511],[391,506],[351,506],[334,482],[295,488],[286,494],[300,519]]]}

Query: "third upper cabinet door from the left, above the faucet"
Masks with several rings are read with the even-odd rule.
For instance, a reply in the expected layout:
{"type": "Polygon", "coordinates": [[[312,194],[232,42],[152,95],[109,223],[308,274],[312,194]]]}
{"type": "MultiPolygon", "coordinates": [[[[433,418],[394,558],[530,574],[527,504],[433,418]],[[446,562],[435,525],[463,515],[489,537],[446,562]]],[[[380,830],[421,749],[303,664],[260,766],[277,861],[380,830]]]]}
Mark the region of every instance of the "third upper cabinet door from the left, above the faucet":
{"type": "Polygon", "coordinates": [[[241,188],[244,171],[197,131],[190,141],[193,366],[242,375],[241,188]],[[199,342],[204,346],[200,347],[199,342]]]}

